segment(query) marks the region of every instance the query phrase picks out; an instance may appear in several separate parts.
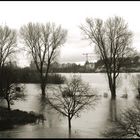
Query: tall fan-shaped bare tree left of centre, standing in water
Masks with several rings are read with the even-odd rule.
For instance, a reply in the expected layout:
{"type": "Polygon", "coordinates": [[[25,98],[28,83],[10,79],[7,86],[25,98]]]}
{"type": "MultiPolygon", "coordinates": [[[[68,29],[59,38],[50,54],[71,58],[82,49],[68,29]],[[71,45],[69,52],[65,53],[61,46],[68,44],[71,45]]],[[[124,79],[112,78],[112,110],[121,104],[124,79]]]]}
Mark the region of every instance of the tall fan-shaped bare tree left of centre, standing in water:
{"type": "Polygon", "coordinates": [[[55,24],[28,23],[21,27],[20,34],[40,74],[42,95],[45,95],[50,65],[58,48],[66,41],[67,31],[55,24]]]}

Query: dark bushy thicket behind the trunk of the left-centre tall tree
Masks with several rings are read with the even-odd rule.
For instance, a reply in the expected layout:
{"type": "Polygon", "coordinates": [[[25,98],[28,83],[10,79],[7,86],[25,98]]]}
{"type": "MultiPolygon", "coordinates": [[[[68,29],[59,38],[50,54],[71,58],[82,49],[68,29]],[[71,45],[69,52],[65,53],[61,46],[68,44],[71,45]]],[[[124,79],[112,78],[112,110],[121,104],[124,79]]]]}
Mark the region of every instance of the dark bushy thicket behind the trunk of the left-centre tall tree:
{"type": "MultiPolygon", "coordinates": [[[[31,70],[28,67],[14,69],[14,75],[16,83],[40,83],[39,73],[36,70],[31,70]]],[[[50,73],[47,83],[62,84],[65,80],[66,78],[60,74],[50,73]]]]}

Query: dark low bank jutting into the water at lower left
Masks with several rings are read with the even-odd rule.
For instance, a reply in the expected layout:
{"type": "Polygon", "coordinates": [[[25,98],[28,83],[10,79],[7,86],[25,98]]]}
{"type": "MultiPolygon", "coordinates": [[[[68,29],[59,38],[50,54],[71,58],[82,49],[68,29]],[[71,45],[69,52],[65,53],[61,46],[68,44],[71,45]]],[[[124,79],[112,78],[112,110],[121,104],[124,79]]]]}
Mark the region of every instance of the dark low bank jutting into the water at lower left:
{"type": "Polygon", "coordinates": [[[37,114],[33,111],[26,112],[22,110],[11,110],[0,107],[0,131],[13,128],[14,125],[24,125],[28,123],[39,123],[44,121],[42,114],[37,114]]]}

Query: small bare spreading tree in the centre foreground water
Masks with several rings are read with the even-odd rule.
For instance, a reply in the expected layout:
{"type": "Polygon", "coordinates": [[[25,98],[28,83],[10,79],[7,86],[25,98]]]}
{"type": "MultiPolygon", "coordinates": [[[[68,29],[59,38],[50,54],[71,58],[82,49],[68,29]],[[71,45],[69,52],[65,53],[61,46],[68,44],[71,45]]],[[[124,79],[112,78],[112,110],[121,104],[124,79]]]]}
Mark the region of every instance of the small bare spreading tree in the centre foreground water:
{"type": "Polygon", "coordinates": [[[59,113],[68,118],[69,137],[71,137],[71,120],[74,116],[92,105],[95,105],[98,96],[93,93],[88,84],[80,77],[73,76],[63,87],[59,86],[51,97],[47,98],[50,105],[59,113]]]}

